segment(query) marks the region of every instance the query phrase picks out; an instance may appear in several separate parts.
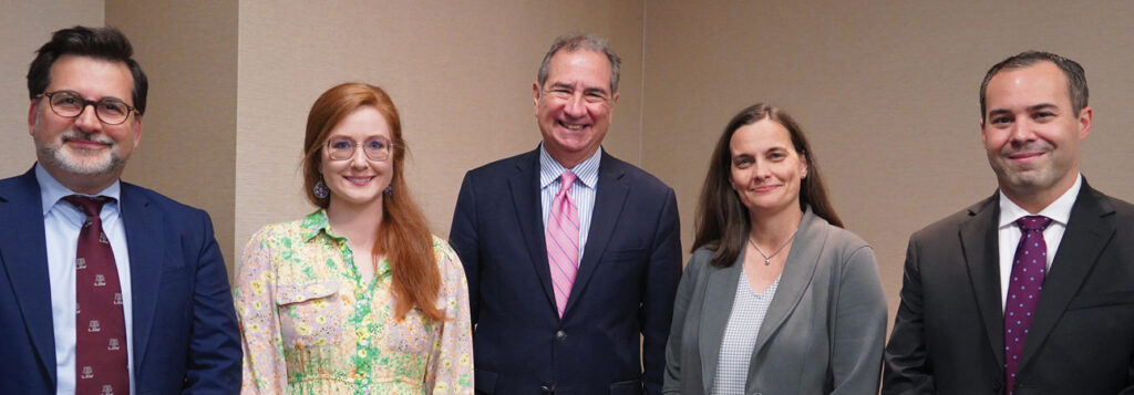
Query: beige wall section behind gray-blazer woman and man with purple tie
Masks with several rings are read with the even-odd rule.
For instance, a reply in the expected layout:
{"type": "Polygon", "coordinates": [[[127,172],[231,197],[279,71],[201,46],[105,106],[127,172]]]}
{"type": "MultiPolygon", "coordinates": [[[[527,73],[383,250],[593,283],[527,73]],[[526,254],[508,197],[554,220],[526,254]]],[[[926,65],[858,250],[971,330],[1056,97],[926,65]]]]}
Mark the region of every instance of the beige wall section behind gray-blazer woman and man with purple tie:
{"type": "Polygon", "coordinates": [[[840,216],[873,244],[892,315],[909,233],[995,191],[976,93],[1027,49],[1084,66],[1095,122],[1083,173],[1134,200],[1132,2],[650,1],[645,19],[643,162],[677,190],[686,248],[725,123],[770,101],[802,124],[840,216]]]}

